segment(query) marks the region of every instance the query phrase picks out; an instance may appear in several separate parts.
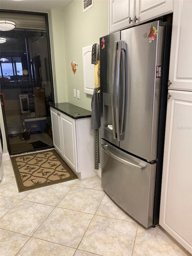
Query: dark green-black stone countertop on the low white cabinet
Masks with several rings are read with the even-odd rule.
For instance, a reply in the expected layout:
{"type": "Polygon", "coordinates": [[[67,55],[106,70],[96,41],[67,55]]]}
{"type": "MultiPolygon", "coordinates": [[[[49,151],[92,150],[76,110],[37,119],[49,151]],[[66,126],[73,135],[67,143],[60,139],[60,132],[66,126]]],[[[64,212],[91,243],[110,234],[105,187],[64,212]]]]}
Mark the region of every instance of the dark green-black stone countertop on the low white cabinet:
{"type": "Polygon", "coordinates": [[[76,105],[70,104],[68,102],[63,103],[50,103],[50,107],[70,116],[73,119],[91,117],[91,111],[86,110],[82,107],[77,107],[76,105]]]}

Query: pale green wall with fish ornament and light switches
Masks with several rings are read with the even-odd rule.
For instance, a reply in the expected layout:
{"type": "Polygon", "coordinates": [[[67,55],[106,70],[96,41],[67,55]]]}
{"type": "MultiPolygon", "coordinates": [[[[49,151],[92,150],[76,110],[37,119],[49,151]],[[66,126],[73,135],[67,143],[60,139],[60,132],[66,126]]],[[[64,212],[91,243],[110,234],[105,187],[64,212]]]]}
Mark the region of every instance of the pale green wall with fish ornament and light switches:
{"type": "MultiPolygon", "coordinates": [[[[59,82],[56,81],[57,97],[55,97],[55,102],[56,100],[58,100],[57,102],[68,101],[79,107],[91,110],[92,96],[85,94],[83,91],[82,47],[93,45],[94,43],[99,44],[99,38],[108,34],[108,1],[93,0],[93,7],[83,13],[82,0],[74,0],[64,8],[62,14],[63,25],[58,24],[58,28],[62,26],[64,28],[64,49],[63,45],[57,45],[56,48],[54,45],[54,51],[59,51],[60,49],[64,51],[65,59],[62,60],[62,64],[61,60],[58,60],[56,55],[54,56],[55,71],[59,68],[60,72],[60,74],[57,72],[56,75],[57,79],[58,76],[60,79],[59,82]],[[75,74],[73,74],[71,69],[71,62],[73,60],[78,64],[75,74]],[[59,65],[56,67],[57,61],[59,65]],[[66,68],[65,70],[64,67],[66,68]],[[64,77],[65,75],[66,77],[64,77]],[[65,87],[67,88],[67,99],[63,93],[65,92],[65,87]],[[80,99],[73,97],[73,89],[79,90],[80,99]]],[[[54,31],[56,30],[55,26],[53,29],[54,31]]],[[[60,30],[60,36],[62,36],[61,32],[60,30]]]]}

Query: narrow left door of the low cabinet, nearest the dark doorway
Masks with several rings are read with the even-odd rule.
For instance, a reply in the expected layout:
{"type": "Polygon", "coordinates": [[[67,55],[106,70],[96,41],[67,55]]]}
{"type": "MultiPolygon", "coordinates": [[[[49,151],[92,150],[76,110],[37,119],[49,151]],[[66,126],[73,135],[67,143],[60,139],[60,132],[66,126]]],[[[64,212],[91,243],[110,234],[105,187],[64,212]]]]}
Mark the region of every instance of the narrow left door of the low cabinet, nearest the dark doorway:
{"type": "Polygon", "coordinates": [[[60,126],[60,113],[58,110],[50,107],[51,111],[51,122],[52,122],[52,135],[53,145],[62,155],[62,141],[61,141],[61,126],[60,126]]]}

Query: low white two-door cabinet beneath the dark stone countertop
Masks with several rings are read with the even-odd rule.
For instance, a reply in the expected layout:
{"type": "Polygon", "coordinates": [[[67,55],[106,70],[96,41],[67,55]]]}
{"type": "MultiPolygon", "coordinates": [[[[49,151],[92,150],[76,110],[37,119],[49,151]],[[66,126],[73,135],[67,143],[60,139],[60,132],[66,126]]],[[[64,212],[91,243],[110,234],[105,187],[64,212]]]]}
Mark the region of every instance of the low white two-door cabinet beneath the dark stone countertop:
{"type": "Polygon", "coordinates": [[[91,118],[73,119],[50,107],[53,145],[79,178],[97,175],[91,118]]]}

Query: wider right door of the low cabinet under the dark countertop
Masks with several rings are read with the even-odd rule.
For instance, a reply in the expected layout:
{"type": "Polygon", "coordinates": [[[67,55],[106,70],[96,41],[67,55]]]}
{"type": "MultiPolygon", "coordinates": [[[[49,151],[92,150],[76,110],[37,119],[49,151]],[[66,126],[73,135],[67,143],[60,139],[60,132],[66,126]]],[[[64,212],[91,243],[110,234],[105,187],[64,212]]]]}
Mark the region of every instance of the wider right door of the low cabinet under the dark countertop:
{"type": "Polygon", "coordinates": [[[61,113],[63,157],[78,172],[75,119],[61,113]]]}

